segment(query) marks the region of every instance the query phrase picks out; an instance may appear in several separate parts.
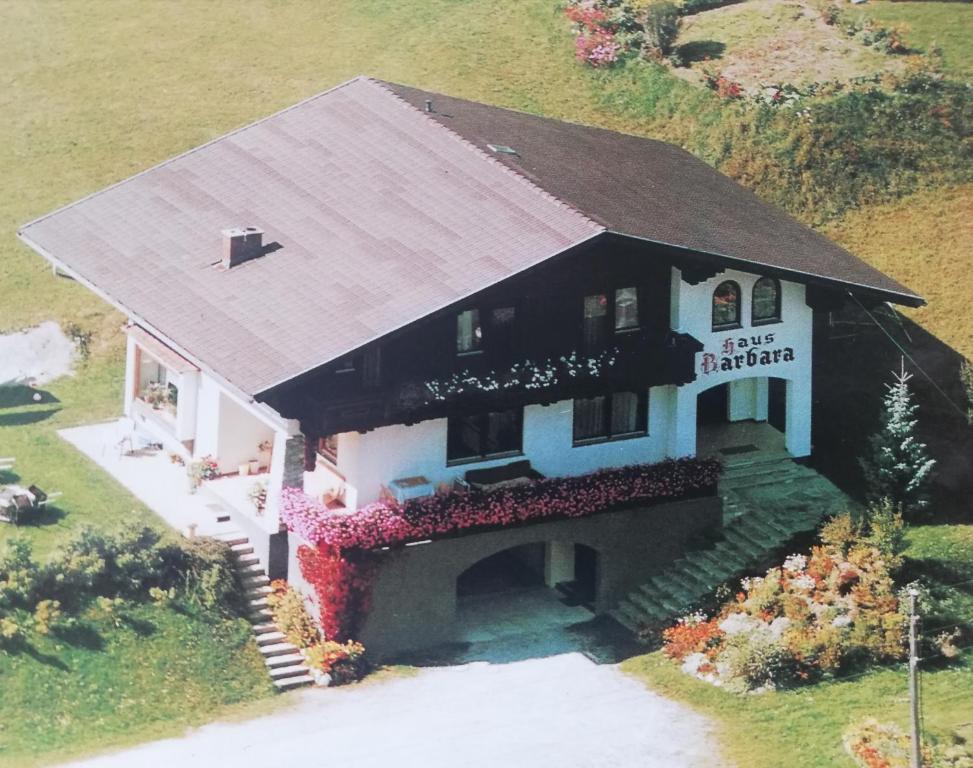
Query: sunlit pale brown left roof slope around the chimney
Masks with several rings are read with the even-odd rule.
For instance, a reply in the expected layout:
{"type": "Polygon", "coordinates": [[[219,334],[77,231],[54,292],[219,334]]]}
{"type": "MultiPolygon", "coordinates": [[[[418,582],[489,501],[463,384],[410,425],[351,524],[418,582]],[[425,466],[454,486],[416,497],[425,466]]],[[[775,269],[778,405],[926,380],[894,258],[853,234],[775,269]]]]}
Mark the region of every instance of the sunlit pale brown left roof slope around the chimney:
{"type": "Polygon", "coordinates": [[[256,394],[601,231],[358,79],[21,236],[256,394]],[[250,225],[280,249],[221,269],[250,225]]]}

